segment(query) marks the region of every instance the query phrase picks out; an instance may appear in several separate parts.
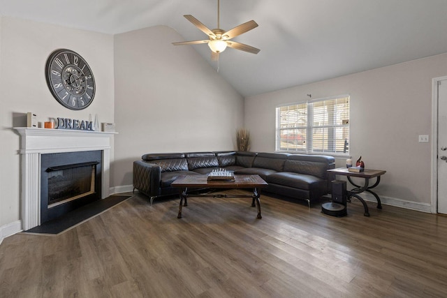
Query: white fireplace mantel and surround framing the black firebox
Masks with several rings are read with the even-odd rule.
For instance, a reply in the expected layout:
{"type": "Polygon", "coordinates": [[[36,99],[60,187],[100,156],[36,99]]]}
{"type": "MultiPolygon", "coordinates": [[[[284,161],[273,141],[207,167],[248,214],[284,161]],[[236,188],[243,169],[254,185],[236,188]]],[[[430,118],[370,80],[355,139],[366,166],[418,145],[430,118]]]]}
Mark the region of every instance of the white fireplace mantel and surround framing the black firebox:
{"type": "Polygon", "coordinates": [[[14,128],[20,133],[22,229],[41,225],[41,154],[102,151],[101,198],[110,188],[110,137],[115,133],[50,128],[14,128]]]}

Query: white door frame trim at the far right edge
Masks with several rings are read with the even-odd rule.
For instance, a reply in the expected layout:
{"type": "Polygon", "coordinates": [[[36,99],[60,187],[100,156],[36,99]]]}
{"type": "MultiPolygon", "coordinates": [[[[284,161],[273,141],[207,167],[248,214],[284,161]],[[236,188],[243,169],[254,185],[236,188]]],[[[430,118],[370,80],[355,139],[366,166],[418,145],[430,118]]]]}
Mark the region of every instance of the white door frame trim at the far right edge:
{"type": "Polygon", "coordinates": [[[432,208],[430,211],[434,214],[438,212],[438,82],[441,80],[447,80],[447,76],[432,79],[432,170],[430,174],[432,208]]]}

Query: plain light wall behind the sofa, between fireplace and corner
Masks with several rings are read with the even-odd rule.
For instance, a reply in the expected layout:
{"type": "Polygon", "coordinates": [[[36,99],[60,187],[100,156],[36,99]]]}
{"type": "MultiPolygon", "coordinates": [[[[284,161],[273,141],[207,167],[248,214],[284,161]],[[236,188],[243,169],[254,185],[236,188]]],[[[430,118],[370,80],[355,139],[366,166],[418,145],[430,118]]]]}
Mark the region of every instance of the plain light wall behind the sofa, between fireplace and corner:
{"type": "Polygon", "coordinates": [[[166,26],[115,36],[114,186],[131,186],[142,154],[235,149],[244,100],[181,40],[166,26]]]}

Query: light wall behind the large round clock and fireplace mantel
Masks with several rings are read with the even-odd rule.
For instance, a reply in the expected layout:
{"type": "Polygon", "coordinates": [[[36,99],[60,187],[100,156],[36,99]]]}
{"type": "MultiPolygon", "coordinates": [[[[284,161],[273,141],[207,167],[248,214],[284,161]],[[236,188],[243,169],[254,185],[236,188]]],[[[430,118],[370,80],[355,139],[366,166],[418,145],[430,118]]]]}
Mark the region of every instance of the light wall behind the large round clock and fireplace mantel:
{"type": "MultiPolygon", "coordinates": [[[[20,138],[12,128],[27,125],[27,112],[36,113],[39,122],[50,117],[87,120],[89,114],[98,114],[102,122],[113,122],[115,95],[113,36],[11,17],[1,17],[0,21],[1,241],[1,228],[20,221],[20,138]],[[66,109],[47,87],[45,63],[58,48],[78,52],[94,73],[96,95],[85,110],[66,109]]],[[[4,236],[8,234],[3,230],[4,236]]]]}

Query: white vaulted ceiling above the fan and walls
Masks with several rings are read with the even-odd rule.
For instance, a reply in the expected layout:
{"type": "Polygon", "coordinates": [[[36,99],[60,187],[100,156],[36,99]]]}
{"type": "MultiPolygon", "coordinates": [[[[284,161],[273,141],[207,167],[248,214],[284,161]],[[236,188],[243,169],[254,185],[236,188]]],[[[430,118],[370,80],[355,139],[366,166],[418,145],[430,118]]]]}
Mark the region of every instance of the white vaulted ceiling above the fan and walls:
{"type": "MultiPolygon", "coordinates": [[[[261,52],[228,48],[219,59],[219,73],[242,96],[447,52],[446,0],[221,0],[220,6],[222,29],[259,24],[234,40],[261,52]]],[[[214,29],[217,0],[0,0],[0,15],[112,34],[163,24],[184,40],[206,39],[187,14],[214,29]]],[[[194,47],[217,69],[207,45],[182,47],[194,47]]]]}

